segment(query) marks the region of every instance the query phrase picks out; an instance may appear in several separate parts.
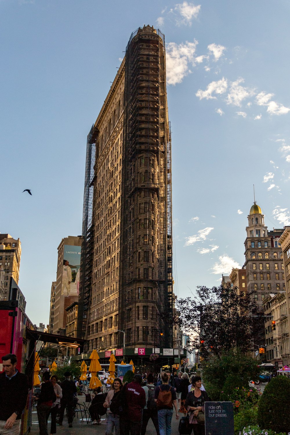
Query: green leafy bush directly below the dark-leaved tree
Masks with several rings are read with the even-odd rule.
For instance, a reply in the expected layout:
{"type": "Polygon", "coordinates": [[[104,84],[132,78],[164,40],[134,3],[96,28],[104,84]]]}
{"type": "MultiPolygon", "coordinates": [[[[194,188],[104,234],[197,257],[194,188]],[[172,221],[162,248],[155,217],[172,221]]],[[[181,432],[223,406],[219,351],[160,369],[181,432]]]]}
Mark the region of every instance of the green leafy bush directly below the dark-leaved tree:
{"type": "Polygon", "coordinates": [[[212,400],[257,402],[257,390],[249,389],[249,382],[257,379],[261,371],[257,359],[245,355],[238,348],[230,349],[220,356],[210,355],[207,361],[202,362],[202,369],[207,394],[212,400]],[[249,391],[249,396],[245,395],[249,391]]]}

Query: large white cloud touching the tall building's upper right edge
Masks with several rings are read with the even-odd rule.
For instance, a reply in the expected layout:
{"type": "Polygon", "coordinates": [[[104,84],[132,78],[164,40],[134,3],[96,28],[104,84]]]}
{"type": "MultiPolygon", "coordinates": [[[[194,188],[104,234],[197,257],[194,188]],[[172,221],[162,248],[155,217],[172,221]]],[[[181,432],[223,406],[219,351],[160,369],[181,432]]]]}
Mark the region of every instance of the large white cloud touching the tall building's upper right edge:
{"type": "Polygon", "coordinates": [[[166,47],[166,70],[167,70],[167,83],[177,84],[181,83],[183,77],[187,76],[191,71],[188,64],[194,65],[194,53],[197,47],[197,40],[194,42],[186,41],[185,44],[176,44],[170,42],[166,47]]]}

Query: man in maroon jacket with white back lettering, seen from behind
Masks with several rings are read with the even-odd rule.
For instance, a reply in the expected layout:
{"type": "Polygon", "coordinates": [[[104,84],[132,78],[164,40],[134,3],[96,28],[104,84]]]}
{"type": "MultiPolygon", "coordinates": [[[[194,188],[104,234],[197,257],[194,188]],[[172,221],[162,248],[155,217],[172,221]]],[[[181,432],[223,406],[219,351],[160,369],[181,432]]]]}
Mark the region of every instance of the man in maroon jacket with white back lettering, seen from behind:
{"type": "Polygon", "coordinates": [[[134,376],[130,384],[125,385],[126,411],[120,415],[120,435],[140,435],[142,411],[146,405],[145,391],[141,387],[142,376],[134,376]]]}

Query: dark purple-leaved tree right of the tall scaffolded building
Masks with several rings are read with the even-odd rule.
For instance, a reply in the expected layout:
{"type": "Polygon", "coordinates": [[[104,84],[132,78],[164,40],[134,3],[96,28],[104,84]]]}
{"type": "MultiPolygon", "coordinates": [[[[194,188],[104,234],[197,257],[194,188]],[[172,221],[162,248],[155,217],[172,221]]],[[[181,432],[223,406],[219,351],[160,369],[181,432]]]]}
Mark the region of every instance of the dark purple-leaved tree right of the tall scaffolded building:
{"type": "Polygon", "coordinates": [[[197,287],[198,300],[179,299],[180,323],[183,331],[196,333],[190,339],[188,351],[200,349],[200,356],[221,355],[222,351],[252,348],[253,318],[257,308],[251,293],[238,294],[237,288],[197,287]]]}

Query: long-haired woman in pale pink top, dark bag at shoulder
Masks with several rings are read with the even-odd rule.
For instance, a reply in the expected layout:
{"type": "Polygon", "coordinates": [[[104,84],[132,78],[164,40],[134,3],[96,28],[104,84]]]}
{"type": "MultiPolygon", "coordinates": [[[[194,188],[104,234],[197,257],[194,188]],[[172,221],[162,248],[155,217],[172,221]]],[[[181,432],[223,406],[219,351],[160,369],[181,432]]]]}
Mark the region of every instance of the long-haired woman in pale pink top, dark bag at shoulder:
{"type": "Polygon", "coordinates": [[[108,409],[106,435],[112,435],[115,427],[116,435],[120,435],[120,412],[122,412],[120,396],[122,395],[123,384],[120,378],[115,378],[111,390],[108,392],[104,408],[108,409]]]}

